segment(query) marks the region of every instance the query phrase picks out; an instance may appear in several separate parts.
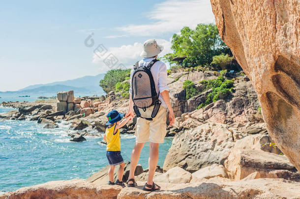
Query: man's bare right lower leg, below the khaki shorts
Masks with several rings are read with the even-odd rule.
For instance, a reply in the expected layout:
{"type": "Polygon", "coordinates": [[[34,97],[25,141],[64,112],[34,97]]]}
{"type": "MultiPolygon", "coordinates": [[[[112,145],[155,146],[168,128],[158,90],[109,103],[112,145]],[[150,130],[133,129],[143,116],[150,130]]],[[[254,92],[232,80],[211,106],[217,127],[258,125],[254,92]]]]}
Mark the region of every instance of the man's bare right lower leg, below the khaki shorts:
{"type": "MultiPolygon", "coordinates": [[[[150,145],[150,154],[149,154],[149,160],[148,160],[149,175],[148,175],[147,184],[152,185],[153,177],[154,177],[154,173],[155,173],[156,165],[157,165],[157,161],[158,161],[159,143],[150,142],[149,145],[150,145]]],[[[148,187],[146,187],[146,188],[148,188],[148,187]]]]}

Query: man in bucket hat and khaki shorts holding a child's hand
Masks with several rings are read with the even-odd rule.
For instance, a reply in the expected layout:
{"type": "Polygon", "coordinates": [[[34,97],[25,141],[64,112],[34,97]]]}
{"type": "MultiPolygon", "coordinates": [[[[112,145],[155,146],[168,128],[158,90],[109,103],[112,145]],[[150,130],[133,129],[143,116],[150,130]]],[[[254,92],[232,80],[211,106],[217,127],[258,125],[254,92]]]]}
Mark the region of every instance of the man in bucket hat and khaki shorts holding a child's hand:
{"type": "MultiPolygon", "coordinates": [[[[141,57],[144,57],[139,61],[138,65],[147,66],[153,59],[157,58],[157,55],[163,50],[162,45],[158,45],[154,39],[145,41],[144,50],[141,53],[141,57]]],[[[129,109],[125,117],[134,116],[133,101],[132,101],[132,75],[133,69],[131,70],[130,76],[130,100],[129,109]]],[[[164,137],[167,133],[166,118],[169,112],[170,126],[174,124],[175,115],[170,102],[169,91],[167,86],[167,67],[166,64],[161,61],[156,61],[151,69],[151,74],[155,83],[156,93],[159,94],[159,100],[161,101],[161,106],[157,115],[152,121],[146,120],[144,118],[138,117],[135,136],[136,143],[133,147],[130,160],[130,172],[129,180],[127,181],[128,187],[136,186],[134,180],[134,171],[138,164],[140,153],[144,147],[145,142],[150,141],[150,154],[149,154],[149,176],[148,181],[143,188],[145,191],[155,191],[159,190],[160,187],[153,182],[154,173],[158,161],[158,148],[159,144],[164,142],[164,137]],[[168,110],[168,112],[167,112],[168,110]]]]}

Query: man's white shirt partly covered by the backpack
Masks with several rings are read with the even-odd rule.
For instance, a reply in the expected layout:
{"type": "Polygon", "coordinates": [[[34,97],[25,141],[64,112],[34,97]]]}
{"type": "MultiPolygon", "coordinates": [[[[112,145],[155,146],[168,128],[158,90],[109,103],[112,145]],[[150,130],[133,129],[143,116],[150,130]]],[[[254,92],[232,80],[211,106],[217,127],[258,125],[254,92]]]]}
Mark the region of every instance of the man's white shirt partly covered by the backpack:
{"type": "MultiPolygon", "coordinates": [[[[142,60],[139,61],[139,66],[147,66],[154,58],[143,58],[142,60]]],[[[130,88],[129,88],[129,93],[132,95],[132,76],[133,76],[133,67],[131,69],[130,73],[130,88]]],[[[155,83],[155,89],[157,94],[159,93],[159,99],[161,101],[161,105],[166,107],[166,103],[164,102],[161,92],[164,90],[169,90],[168,85],[167,85],[167,78],[168,78],[168,73],[167,73],[167,66],[164,62],[161,61],[156,61],[153,66],[150,69],[153,80],[155,83]]]]}

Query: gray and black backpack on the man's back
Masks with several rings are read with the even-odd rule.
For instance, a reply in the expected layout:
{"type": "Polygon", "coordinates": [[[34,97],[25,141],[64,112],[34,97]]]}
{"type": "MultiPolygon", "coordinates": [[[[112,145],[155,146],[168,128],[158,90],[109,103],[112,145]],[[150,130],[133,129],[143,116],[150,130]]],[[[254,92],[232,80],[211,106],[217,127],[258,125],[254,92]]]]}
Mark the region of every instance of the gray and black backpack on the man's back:
{"type": "Polygon", "coordinates": [[[133,109],[138,117],[152,120],[159,110],[161,101],[158,99],[155,89],[155,83],[150,71],[156,62],[153,59],[147,66],[139,66],[139,61],[133,66],[133,75],[131,82],[133,109]],[[147,111],[147,109],[149,109],[147,111]]]}

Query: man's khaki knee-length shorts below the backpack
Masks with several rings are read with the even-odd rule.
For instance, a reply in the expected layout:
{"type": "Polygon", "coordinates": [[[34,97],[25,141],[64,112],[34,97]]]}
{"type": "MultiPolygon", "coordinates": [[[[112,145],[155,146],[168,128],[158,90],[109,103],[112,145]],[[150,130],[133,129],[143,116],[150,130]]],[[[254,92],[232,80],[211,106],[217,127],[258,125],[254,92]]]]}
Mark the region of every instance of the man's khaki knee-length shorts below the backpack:
{"type": "MultiPolygon", "coordinates": [[[[148,111],[152,113],[151,109],[146,110],[148,111]]],[[[143,143],[150,140],[153,143],[163,143],[167,134],[166,119],[167,109],[163,106],[160,106],[152,121],[138,117],[135,128],[136,142],[143,143]]]]}

